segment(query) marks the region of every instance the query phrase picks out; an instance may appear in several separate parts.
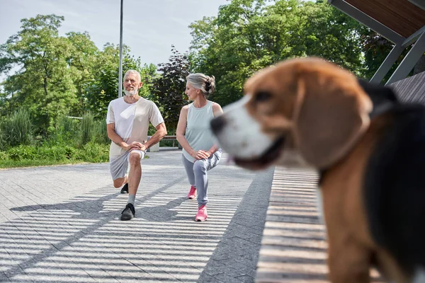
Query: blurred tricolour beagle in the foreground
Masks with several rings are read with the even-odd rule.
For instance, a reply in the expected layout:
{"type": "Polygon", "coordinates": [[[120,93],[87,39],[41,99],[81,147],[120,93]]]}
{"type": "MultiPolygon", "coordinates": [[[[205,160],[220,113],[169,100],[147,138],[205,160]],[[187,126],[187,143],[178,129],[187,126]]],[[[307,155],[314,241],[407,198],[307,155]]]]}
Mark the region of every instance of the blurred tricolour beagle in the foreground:
{"type": "Polygon", "coordinates": [[[210,123],[244,168],[315,168],[329,279],[425,282],[425,107],[319,58],[254,74],[210,123]]]}

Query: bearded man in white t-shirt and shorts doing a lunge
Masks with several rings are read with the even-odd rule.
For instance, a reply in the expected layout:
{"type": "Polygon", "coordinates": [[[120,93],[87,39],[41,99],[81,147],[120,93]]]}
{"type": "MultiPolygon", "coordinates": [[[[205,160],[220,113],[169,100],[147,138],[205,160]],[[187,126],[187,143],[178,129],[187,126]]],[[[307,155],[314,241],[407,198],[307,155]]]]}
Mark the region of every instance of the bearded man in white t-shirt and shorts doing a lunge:
{"type": "Polygon", "coordinates": [[[142,85],[138,71],[127,71],[123,81],[125,96],[112,100],[106,115],[108,137],[112,141],[109,161],[113,185],[123,186],[121,192],[129,193],[121,220],[130,220],[135,216],[136,192],[142,178],[140,161],[149,146],[166,135],[164,119],[157,105],[139,96],[142,85]],[[147,141],[149,122],[157,132],[147,141]],[[129,163],[130,171],[127,175],[129,163]]]}

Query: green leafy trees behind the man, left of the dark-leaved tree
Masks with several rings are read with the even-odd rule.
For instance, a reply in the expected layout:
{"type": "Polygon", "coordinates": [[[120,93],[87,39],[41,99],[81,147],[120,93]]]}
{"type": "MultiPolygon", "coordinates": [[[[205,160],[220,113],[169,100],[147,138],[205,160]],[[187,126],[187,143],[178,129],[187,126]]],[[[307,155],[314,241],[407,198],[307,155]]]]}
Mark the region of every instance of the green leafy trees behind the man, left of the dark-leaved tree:
{"type": "MultiPolygon", "coordinates": [[[[118,46],[107,43],[98,50],[88,33],[60,36],[62,16],[38,15],[21,20],[21,30],[0,45],[0,73],[8,74],[0,94],[4,115],[26,108],[43,135],[55,130],[58,117],[81,117],[91,110],[105,117],[109,101],[118,98],[118,46]]],[[[154,65],[141,67],[140,59],[123,48],[123,70],[137,69],[149,93],[154,65]]]]}

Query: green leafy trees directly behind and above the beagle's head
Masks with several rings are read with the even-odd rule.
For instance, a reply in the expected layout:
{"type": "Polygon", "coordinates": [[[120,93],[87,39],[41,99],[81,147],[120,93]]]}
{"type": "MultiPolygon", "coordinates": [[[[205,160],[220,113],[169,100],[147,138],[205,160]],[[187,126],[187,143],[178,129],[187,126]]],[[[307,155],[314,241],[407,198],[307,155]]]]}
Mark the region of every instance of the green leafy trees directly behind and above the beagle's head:
{"type": "Polygon", "coordinates": [[[191,71],[212,74],[226,105],[242,96],[254,72],[292,57],[319,56],[363,71],[360,24],[329,6],[300,0],[232,0],[192,29],[191,71]]]}

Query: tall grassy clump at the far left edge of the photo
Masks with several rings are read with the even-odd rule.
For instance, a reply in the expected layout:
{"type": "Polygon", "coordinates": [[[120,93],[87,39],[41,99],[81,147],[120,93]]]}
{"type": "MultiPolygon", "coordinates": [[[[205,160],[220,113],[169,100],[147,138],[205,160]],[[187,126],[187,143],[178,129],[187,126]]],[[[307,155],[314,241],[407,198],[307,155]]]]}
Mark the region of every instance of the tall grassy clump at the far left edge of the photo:
{"type": "Polygon", "coordinates": [[[0,123],[0,149],[18,144],[30,144],[33,141],[33,124],[26,110],[18,110],[0,123]]]}

